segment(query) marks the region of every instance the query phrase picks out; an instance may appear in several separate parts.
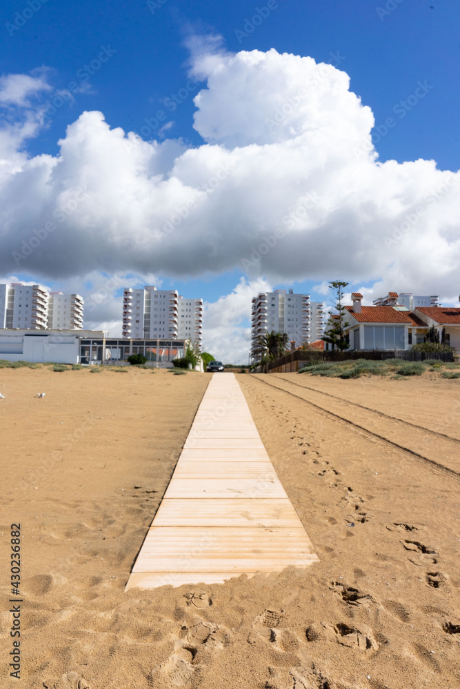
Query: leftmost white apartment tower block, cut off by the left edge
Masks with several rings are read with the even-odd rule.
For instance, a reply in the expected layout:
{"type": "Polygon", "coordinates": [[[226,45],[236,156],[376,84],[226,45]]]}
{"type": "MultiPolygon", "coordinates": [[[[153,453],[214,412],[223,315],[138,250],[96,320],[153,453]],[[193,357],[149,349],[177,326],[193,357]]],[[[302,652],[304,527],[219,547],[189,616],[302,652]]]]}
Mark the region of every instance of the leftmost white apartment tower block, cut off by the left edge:
{"type": "Polygon", "coordinates": [[[43,285],[0,285],[0,328],[45,330],[49,294],[43,285]]]}

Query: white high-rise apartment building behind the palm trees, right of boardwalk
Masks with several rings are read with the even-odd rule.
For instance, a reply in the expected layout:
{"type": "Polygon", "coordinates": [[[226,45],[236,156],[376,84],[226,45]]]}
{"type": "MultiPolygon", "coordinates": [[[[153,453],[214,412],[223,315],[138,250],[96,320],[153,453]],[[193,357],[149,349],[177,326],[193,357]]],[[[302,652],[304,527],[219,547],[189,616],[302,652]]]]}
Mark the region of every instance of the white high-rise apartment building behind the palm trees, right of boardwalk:
{"type": "Polygon", "coordinates": [[[260,292],[252,298],[252,343],[272,330],[287,333],[297,347],[319,340],[324,331],[324,305],[310,302],[309,294],[290,289],[260,292]]]}

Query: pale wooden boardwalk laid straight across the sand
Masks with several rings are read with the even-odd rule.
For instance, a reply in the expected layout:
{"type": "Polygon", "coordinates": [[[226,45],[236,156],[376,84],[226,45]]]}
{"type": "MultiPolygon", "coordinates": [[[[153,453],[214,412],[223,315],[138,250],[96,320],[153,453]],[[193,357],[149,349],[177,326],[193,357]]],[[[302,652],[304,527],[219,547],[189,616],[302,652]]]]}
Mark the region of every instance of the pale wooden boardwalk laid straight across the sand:
{"type": "Polygon", "coordinates": [[[233,373],[214,373],[126,588],[317,562],[233,373]]]}

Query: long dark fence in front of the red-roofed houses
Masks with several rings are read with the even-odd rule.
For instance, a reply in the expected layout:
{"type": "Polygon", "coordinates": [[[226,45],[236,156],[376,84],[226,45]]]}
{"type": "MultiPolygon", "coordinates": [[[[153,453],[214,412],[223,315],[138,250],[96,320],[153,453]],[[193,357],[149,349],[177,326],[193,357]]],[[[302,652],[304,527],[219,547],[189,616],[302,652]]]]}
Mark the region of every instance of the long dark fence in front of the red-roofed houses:
{"type": "Polygon", "coordinates": [[[356,359],[370,359],[381,361],[383,359],[403,359],[405,361],[425,361],[437,359],[438,361],[452,362],[452,351],[412,351],[406,349],[392,349],[386,351],[312,351],[308,349],[296,349],[281,356],[279,359],[261,364],[252,370],[252,373],[295,373],[310,361],[350,361],[356,359]]]}

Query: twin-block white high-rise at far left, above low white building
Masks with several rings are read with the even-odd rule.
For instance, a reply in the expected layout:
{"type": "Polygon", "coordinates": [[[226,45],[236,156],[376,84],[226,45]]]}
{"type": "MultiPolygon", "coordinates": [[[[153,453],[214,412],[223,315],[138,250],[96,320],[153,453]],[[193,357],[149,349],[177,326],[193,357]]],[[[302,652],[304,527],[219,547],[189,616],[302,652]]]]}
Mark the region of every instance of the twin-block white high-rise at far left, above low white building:
{"type": "Polygon", "coordinates": [[[81,330],[83,299],[79,294],[48,292],[43,285],[0,285],[0,328],[81,330]]]}

